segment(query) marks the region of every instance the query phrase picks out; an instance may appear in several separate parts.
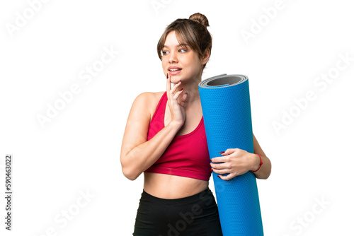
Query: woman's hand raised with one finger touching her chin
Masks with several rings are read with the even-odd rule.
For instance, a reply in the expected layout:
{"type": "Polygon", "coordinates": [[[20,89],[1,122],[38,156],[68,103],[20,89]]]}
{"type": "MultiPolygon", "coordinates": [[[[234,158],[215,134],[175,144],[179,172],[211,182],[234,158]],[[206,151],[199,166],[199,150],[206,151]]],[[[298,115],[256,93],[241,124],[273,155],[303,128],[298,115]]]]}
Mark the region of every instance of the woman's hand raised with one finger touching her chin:
{"type": "Polygon", "coordinates": [[[167,84],[166,84],[166,95],[167,102],[169,104],[169,109],[171,112],[171,123],[176,124],[179,128],[183,126],[185,122],[185,101],[187,100],[187,93],[182,95],[180,102],[178,103],[178,98],[183,93],[183,88],[178,90],[181,85],[181,81],[176,83],[173,88],[171,88],[171,76],[167,73],[167,84]],[[178,90],[178,91],[176,91],[178,90]]]}

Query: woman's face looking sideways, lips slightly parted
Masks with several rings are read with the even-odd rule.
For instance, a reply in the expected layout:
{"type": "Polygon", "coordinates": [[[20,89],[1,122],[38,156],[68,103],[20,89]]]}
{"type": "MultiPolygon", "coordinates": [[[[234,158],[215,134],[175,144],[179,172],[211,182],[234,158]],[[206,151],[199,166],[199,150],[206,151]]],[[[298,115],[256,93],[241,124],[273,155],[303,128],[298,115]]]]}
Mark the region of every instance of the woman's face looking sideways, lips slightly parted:
{"type": "Polygon", "coordinates": [[[200,80],[202,61],[188,45],[180,45],[175,31],[171,31],[162,48],[162,68],[165,75],[170,74],[171,83],[200,80]]]}

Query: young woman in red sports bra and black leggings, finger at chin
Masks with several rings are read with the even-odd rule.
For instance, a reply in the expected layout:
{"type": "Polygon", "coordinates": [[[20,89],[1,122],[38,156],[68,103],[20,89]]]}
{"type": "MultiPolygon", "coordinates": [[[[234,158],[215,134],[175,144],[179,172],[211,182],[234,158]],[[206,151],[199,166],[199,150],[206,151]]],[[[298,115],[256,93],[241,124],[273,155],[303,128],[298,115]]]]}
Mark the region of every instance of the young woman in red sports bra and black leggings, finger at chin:
{"type": "Polygon", "coordinates": [[[135,236],[222,235],[211,172],[225,181],[248,171],[258,179],[270,175],[254,135],[258,155],[230,147],[210,164],[198,91],[212,49],[207,26],[200,13],[167,26],[157,45],[166,91],[138,95],[130,110],[120,160],[128,179],[144,172],[135,236]]]}

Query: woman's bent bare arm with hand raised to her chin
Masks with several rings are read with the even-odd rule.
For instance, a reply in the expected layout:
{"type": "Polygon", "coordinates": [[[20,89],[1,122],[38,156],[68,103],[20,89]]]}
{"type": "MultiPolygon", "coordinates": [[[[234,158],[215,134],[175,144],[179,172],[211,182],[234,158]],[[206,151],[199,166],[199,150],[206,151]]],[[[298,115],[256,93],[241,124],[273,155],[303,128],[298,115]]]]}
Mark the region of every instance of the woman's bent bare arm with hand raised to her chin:
{"type": "MultiPolygon", "coordinates": [[[[151,112],[147,107],[152,105],[152,94],[142,93],[133,102],[120,151],[122,172],[128,179],[136,179],[160,158],[185,121],[184,102],[181,102],[181,105],[178,105],[177,102],[177,98],[182,92],[175,93],[179,84],[171,89],[169,81],[168,79],[167,96],[171,110],[171,122],[149,141],[147,141],[147,132],[151,112]]],[[[183,95],[182,98],[185,101],[186,95],[183,95]]]]}

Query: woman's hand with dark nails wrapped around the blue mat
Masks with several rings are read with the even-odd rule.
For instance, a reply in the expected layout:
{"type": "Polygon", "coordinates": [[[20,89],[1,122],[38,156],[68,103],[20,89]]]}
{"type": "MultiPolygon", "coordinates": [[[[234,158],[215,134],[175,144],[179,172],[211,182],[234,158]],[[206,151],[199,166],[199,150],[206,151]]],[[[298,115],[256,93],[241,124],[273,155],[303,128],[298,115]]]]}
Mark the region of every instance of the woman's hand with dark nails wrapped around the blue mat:
{"type": "Polygon", "coordinates": [[[218,177],[229,180],[236,175],[243,175],[249,170],[257,170],[261,161],[258,155],[249,153],[239,148],[229,148],[224,153],[220,153],[222,157],[212,158],[212,171],[220,174],[218,177]],[[227,174],[229,175],[222,175],[227,174]]]}

